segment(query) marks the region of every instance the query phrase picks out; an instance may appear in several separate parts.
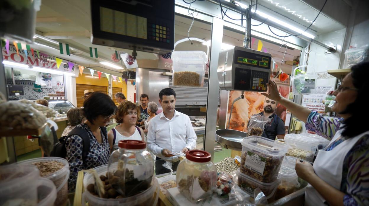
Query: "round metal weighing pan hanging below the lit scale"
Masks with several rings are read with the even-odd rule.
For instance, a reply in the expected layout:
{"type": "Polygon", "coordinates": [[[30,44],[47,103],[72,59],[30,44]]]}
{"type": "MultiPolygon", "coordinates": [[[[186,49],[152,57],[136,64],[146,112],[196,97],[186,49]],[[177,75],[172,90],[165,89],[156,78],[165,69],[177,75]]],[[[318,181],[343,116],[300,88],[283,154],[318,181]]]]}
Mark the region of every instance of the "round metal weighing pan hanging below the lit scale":
{"type": "Polygon", "coordinates": [[[247,137],[247,133],[234,129],[218,129],[215,131],[215,141],[225,149],[242,151],[242,139],[247,137]]]}

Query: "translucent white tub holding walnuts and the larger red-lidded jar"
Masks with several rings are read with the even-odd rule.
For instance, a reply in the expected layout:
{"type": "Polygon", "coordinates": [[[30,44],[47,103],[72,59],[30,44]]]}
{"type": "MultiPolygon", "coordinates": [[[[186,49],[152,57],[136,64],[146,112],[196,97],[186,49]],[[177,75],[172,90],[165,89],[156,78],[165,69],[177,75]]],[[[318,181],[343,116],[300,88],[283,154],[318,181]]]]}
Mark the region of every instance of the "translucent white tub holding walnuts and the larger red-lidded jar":
{"type": "MultiPolygon", "coordinates": [[[[101,165],[99,167],[94,168],[97,174],[105,175],[108,171],[108,165],[101,165]]],[[[85,192],[82,195],[82,205],[86,205],[86,202],[89,203],[89,206],[119,206],[119,205],[145,205],[145,206],[154,206],[158,202],[159,198],[159,184],[158,179],[152,178],[151,187],[146,191],[141,192],[137,195],[130,196],[128,198],[119,198],[119,199],[106,199],[100,198],[92,195],[89,191],[87,191],[87,185],[93,184],[94,178],[90,173],[85,174],[83,178],[83,185],[85,187],[85,192]],[[156,195],[155,195],[156,192],[156,195]]]]}

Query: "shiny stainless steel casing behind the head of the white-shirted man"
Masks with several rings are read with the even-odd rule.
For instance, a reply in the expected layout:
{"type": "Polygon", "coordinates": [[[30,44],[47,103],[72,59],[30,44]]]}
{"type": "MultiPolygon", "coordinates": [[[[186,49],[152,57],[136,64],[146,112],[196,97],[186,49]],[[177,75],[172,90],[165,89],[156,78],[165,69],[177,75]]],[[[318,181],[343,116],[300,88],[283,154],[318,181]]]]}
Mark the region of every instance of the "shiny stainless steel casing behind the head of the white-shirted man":
{"type": "Polygon", "coordinates": [[[162,70],[151,70],[145,68],[136,69],[136,101],[139,102],[141,94],[149,95],[149,102],[159,104],[159,92],[169,87],[169,77],[163,75],[162,70]]]}

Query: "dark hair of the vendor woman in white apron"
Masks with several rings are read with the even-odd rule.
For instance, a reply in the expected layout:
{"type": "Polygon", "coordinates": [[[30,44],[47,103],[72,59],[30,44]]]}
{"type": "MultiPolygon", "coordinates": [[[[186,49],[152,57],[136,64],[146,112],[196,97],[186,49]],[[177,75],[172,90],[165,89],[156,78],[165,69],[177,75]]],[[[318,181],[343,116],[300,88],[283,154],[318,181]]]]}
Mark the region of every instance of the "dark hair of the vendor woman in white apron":
{"type": "Polygon", "coordinates": [[[341,112],[341,114],[351,114],[351,116],[343,122],[343,126],[341,128],[343,129],[342,136],[355,137],[368,131],[368,125],[363,118],[369,115],[369,110],[358,109],[362,108],[363,102],[367,101],[368,98],[368,68],[369,62],[361,62],[351,67],[352,83],[354,84],[355,89],[357,89],[358,95],[356,96],[355,101],[347,105],[345,111],[341,112]]]}

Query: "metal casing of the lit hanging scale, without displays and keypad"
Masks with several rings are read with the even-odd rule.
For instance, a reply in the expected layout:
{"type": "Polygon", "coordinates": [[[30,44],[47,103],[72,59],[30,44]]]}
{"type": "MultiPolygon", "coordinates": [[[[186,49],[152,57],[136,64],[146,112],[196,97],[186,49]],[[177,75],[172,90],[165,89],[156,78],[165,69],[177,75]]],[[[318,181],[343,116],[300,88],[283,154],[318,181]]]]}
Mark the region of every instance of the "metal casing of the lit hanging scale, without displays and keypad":
{"type": "MultiPolygon", "coordinates": [[[[219,80],[219,87],[221,90],[236,90],[235,89],[235,73],[237,68],[241,69],[249,69],[252,71],[262,71],[268,72],[268,77],[270,76],[270,69],[259,68],[254,66],[249,66],[248,64],[235,64],[235,54],[237,50],[241,50],[242,52],[255,53],[256,55],[268,56],[272,57],[269,53],[259,52],[253,49],[242,48],[239,46],[235,46],[233,49],[223,50],[219,53],[219,61],[218,61],[218,69],[217,75],[219,80]],[[237,67],[237,68],[236,68],[237,67]]],[[[271,62],[269,62],[269,68],[271,66],[271,62]]],[[[252,76],[251,76],[252,78],[252,76]]],[[[251,79],[244,80],[246,84],[251,83],[251,79]]],[[[242,89],[248,91],[246,89],[242,89]]],[[[241,90],[238,90],[241,91],[241,90]]]]}

